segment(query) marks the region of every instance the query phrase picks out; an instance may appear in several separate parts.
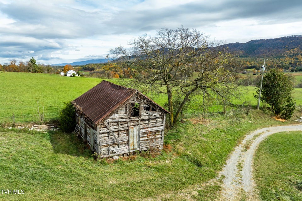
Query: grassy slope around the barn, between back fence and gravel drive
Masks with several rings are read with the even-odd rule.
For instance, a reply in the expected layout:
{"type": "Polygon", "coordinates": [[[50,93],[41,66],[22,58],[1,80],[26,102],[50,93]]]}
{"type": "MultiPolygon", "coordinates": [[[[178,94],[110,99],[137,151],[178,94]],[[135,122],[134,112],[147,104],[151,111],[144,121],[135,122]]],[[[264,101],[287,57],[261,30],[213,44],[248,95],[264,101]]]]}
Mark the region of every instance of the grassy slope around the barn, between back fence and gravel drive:
{"type": "MultiPolygon", "coordinates": [[[[184,119],[165,134],[160,155],[147,152],[113,163],[95,161],[73,134],[0,129],[1,187],[25,192],[0,200],[182,200],[180,190],[191,196],[217,176],[246,133],[278,124],[258,111],[184,119]]],[[[212,200],[219,190],[206,187],[191,200],[212,200]]]]}

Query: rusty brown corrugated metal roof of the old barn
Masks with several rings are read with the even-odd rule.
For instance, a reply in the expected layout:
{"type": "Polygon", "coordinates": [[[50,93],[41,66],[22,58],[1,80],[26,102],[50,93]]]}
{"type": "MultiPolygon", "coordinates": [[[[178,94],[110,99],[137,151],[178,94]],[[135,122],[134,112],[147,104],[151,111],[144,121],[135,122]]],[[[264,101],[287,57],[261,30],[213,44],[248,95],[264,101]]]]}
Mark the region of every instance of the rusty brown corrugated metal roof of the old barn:
{"type": "MultiPolygon", "coordinates": [[[[80,107],[81,111],[91,119],[92,122],[97,124],[137,92],[138,90],[103,80],[100,84],[88,90],[72,102],[80,107]]],[[[147,96],[145,97],[149,99],[147,96]]],[[[149,100],[152,101],[151,99],[149,100]]],[[[154,101],[152,102],[155,103],[154,101]]],[[[166,111],[161,106],[159,107],[166,111]]]]}

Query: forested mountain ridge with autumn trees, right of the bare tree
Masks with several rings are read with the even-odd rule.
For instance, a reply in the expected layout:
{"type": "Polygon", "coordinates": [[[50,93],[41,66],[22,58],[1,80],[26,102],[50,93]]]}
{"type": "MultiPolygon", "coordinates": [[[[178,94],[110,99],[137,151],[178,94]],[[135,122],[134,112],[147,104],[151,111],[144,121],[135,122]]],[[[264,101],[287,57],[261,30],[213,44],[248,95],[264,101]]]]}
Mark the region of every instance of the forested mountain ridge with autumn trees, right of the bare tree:
{"type": "Polygon", "coordinates": [[[302,35],[229,43],[226,46],[244,62],[246,68],[259,68],[264,57],[271,60],[268,62],[269,66],[292,70],[302,67],[302,35]]]}

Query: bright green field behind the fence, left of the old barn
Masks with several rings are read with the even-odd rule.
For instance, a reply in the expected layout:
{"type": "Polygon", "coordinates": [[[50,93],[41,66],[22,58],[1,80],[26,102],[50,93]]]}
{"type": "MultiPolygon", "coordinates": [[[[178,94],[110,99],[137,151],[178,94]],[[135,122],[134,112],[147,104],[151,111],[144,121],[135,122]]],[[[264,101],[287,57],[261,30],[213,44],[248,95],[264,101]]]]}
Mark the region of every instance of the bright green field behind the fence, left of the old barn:
{"type": "Polygon", "coordinates": [[[74,100],[101,79],[70,78],[54,74],[41,73],[0,73],[0,118],[12,122],[33,122],[38,120],[40,112],[45,112],[45,119],[59,116],[63,102],[74,100]],[[38,103],[37,103],[38,102],[38,103]]]}

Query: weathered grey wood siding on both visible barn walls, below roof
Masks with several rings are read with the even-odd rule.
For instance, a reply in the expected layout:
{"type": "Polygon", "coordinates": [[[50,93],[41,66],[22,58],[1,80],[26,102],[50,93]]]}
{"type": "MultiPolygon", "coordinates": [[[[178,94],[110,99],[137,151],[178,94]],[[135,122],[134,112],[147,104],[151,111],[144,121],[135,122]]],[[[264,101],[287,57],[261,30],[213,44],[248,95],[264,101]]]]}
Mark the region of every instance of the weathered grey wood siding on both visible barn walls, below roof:
{"type": "Polygon", "coordinates": [[[165,117],[165,111],[154,103],[134,96],[98,125],[94,125],[80,112],[76,113],[76,122],[80,127],[81,138],[87,141],[93,152],[104,158],[129,155],[133,151],[148,148],[162,149],[165,117]],[[131,103],[139,104],[137,117],[131,117],[131,103]]]}

